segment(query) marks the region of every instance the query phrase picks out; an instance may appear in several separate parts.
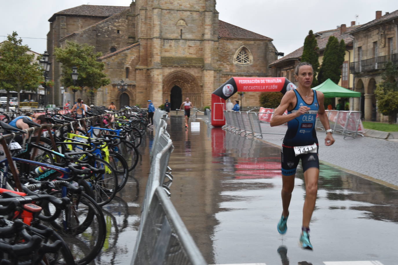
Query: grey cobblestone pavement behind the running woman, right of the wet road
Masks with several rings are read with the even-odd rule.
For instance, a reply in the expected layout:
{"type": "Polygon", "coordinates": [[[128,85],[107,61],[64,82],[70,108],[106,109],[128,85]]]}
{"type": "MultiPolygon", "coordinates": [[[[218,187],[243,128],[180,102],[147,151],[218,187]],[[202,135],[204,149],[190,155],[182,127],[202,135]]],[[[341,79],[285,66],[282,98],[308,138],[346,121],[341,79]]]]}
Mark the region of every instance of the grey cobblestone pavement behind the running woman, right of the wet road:
{"type": "MultiPolygon", "coordinates": [[[[203,117],[207,120],[206,116],[203,117]]],[[[270,127],[269,123],[261,122],[261,128],[266,133],[285,134],[287,126],[270,127]]],[[[282,137],[283,135],[278,134],[263,134],[261,141],[281,146],[282,137]]],[[[397,139],[386,140],[360,135],[343,139],[343,135],[334,133],[336,142],[325,146],[325,132],[317,130],[317,137],[320,143],[320,162],[398,190],[397,139]]]]}

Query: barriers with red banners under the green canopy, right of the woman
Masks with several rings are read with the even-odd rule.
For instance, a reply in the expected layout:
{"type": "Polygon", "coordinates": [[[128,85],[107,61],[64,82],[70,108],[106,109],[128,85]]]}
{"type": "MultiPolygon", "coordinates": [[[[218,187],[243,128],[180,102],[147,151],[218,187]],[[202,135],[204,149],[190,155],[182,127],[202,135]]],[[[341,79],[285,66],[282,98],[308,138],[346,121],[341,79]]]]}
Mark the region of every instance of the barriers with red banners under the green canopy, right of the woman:
{"type": "MultiPolygon", "coordinates": [[[[345,111],[345,110],[326,110],[328,115],[330,128],[333,132],[338,132],[345,137],[350,136],[355,138],[357,135],[364,137],[361,130],[361,112],[360,111],[345,111]]],[[[316,118],[315,127],[317,129],[325,130],[319,117],[316,118]]]]}

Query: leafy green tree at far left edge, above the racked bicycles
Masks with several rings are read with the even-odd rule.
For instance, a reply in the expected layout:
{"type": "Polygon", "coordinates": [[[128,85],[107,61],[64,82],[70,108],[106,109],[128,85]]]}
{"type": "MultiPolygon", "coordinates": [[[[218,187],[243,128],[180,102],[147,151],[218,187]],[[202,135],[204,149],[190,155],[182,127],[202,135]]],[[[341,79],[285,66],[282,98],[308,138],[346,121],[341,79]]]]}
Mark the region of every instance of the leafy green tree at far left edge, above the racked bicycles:
{"type": "Polygon", "coordinates": [[[44,77],[35,55],[28,54],[29,47],[22,45],[22,39],[17,37],[14,31],[0,47],[0,87],[7,91],[7,98],[10,98],[10,91],[18,91],[18,102],[21,102],[20,91],[36,91],[44,77]]]}

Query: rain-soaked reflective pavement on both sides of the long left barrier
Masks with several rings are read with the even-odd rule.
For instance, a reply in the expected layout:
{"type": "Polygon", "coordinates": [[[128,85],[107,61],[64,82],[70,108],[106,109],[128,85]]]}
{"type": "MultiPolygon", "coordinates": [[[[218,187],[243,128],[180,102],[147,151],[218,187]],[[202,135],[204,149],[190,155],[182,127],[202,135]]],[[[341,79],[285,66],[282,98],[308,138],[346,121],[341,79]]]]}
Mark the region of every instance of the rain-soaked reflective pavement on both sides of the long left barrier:
{"type": "MultiPolygon", "coordinates": [[[[168,132],[174,181],[172,202],[208,264],[324,264],[379,261],[398,264],[398,191],[321,164],[312,216],[314,251],[298,247],[304,181],[295,180],[287,233],[276,229],[281,215],[280,148],[239,137],[200,122],[199,132],[171,116],[168,132]]],[[[92,264],[130,264],[149,172],[151,134],[142,158],[114,201],[104,206],[109,238],[92,264]]],[[[299,165],[300,167],[300,165],[299,165]]],[[[360,263],[359,263],[360,264],[360,263]]]]}

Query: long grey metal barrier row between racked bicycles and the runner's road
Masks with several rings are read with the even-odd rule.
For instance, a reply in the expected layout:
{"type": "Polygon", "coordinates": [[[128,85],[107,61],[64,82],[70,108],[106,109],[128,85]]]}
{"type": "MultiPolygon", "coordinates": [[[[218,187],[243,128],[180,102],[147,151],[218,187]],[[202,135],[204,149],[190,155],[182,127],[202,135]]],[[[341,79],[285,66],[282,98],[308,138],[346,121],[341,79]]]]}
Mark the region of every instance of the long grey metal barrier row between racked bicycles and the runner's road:
{"type": "Polygon", "coordinates": [[[166,178],[172,180],[168,162],[174,147],[166,131],[167,114],[163,112],[156,115],[156,123],[154,115],[156,135],[131,265],[205,265],[203,255],[168,197],[169,186],[164,184],[166,178]]]}

